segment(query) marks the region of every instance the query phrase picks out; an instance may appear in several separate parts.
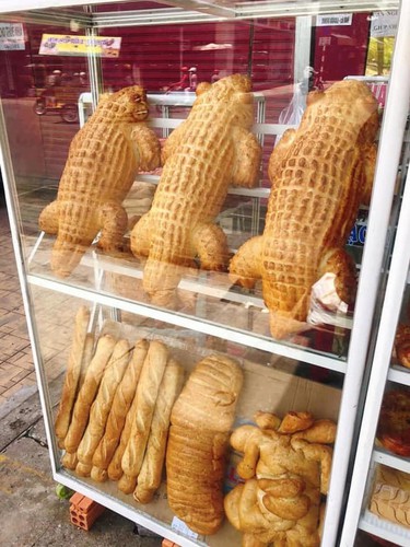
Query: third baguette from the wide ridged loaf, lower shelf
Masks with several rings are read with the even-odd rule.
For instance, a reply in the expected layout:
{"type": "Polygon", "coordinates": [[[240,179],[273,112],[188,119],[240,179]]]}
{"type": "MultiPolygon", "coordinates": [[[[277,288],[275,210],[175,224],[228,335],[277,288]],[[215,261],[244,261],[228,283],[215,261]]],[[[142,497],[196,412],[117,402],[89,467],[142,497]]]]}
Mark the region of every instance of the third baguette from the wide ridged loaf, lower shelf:
{"type": "Polygon", "coordinates": [[[99,469],[108,468],[109,462],[118,446],[128,410],[136,395],[137,384],[147,357],[148,348],[149,342],[147,340],[139,340],[136,344],[132,358],[116,391],[104,437],[99,441],[93,455],[93,465],[99,469]]]}

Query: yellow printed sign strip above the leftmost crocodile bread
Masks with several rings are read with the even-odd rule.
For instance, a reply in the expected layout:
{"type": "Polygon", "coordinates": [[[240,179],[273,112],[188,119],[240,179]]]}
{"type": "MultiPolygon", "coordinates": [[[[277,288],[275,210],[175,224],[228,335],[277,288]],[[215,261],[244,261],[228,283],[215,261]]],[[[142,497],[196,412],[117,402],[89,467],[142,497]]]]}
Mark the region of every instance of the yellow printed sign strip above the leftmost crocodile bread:
{"type": "Polygon", "coordinates": [[[118,57],[121,38],[107,36],[69,36],[65,34],[43,34],[39,55],[96,55],[118,57]]]}

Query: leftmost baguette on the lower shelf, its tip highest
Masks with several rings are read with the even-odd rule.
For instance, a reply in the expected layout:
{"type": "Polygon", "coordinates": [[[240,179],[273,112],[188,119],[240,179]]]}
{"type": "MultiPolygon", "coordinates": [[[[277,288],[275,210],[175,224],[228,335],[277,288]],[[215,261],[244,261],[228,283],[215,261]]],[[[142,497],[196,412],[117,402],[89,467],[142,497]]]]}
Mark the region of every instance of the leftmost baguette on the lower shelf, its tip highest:
{"type": "Polygon", "coordinates": [[[55,431],[59,444],[63,443],[70,426],[71,410],[74,405],[78,384],[81,375],[81,361],[84,350],[86,330],[89,328],[90,310],[81,306],[75,315],[74,336],[67,363],[67,372],[60,406],[57,412],[55,431]]]}

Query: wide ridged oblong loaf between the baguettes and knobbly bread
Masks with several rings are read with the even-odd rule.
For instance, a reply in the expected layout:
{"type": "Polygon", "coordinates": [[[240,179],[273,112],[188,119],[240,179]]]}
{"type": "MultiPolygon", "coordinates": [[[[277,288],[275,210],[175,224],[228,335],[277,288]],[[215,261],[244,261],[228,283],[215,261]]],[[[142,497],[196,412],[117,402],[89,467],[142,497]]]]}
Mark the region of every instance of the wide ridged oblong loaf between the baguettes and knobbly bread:
{"type": "Polygon", "coordinates": [[[211,356],[196,365],[172,410],[168,502],[198,534],[214,534],[223,521],[225,457],[242,383],[235,361],[211,356]]]}

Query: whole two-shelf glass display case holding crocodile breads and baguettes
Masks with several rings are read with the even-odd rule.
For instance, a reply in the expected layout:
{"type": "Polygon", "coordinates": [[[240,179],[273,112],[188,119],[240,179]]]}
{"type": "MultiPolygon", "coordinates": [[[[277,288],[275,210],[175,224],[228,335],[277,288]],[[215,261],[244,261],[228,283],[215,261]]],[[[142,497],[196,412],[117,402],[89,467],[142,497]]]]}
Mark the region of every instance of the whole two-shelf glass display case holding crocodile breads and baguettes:
{"type": "Polygon", "coordinates": [[[1,166],[57,481],[178,545],[367,531],[365,485],[347,498],[408,269],[409,23],[387,0],[2,2],[1,166]]]}

